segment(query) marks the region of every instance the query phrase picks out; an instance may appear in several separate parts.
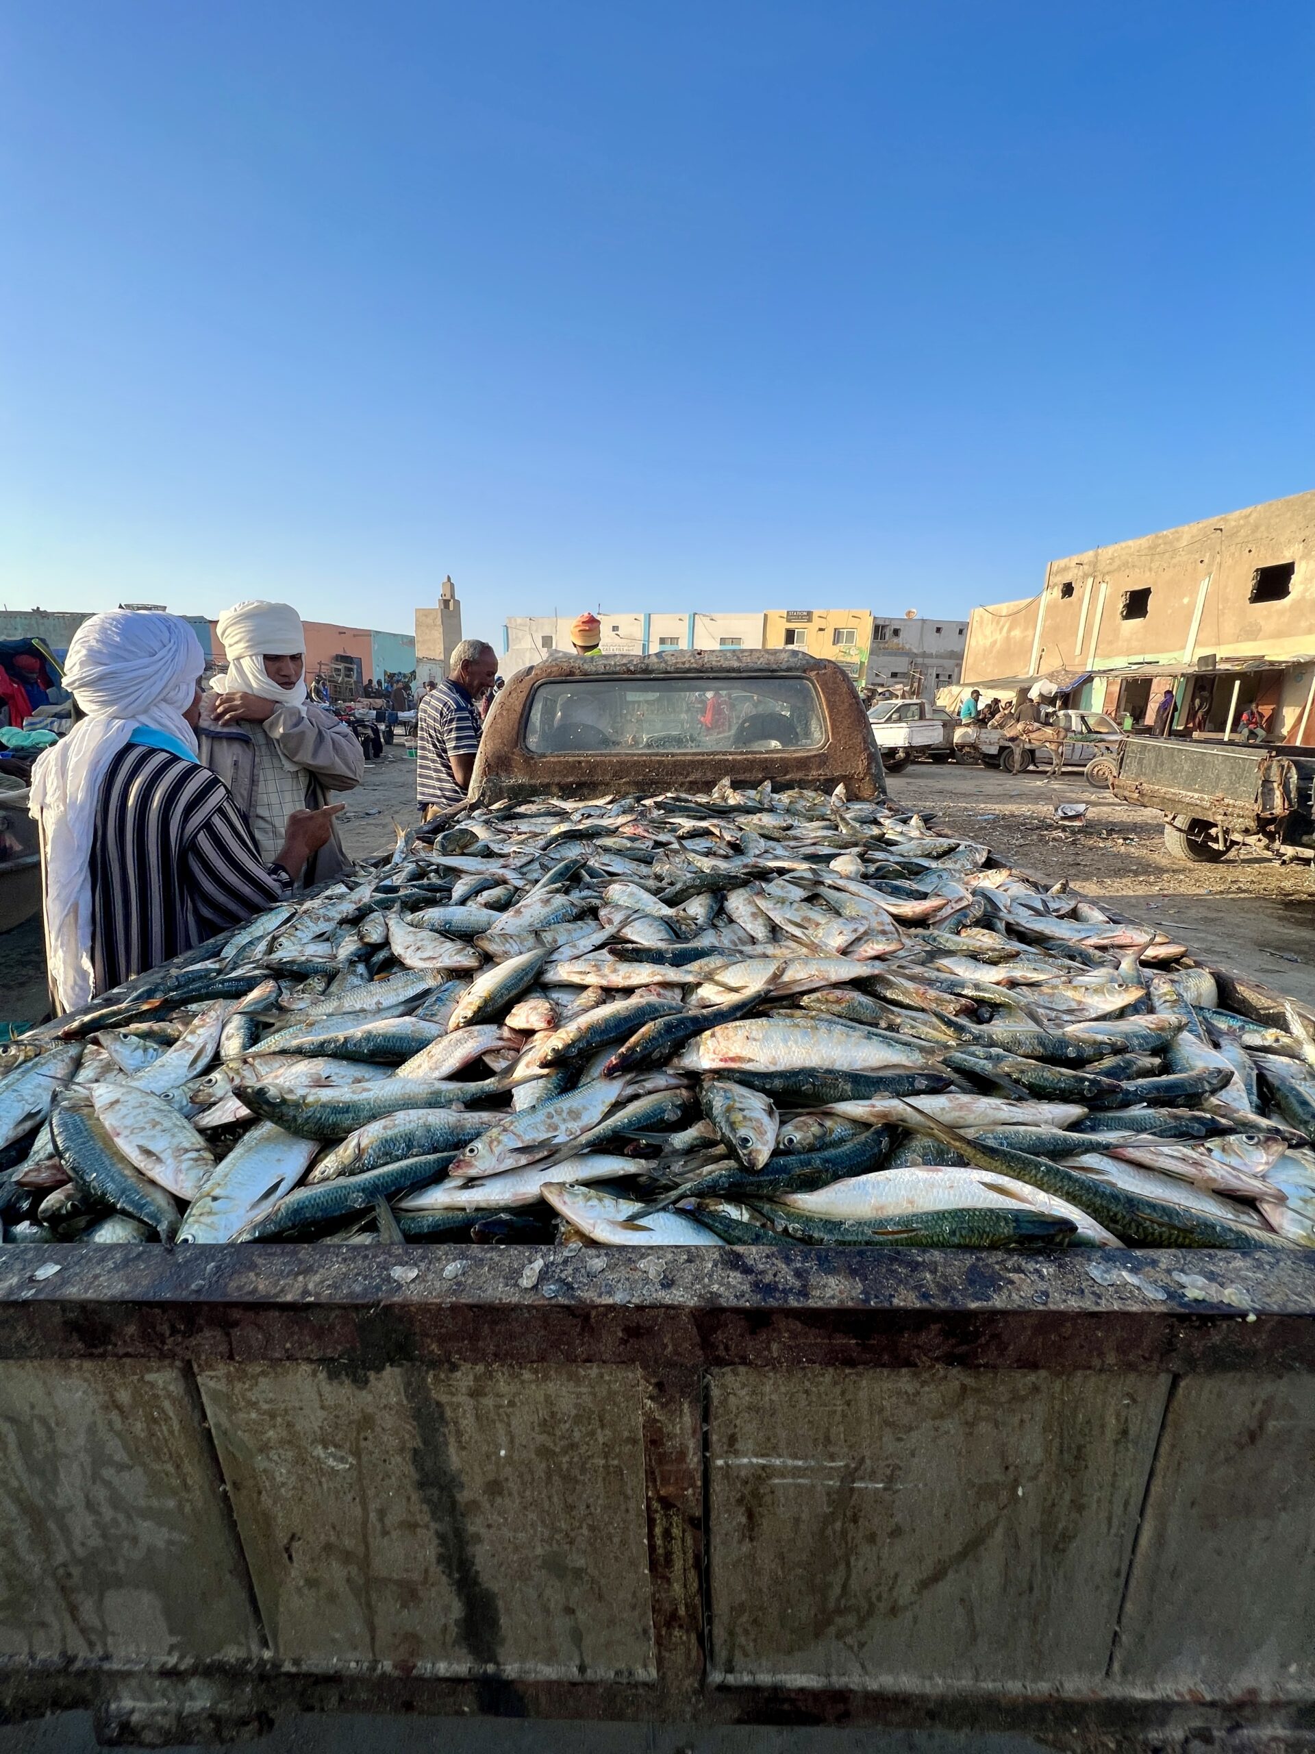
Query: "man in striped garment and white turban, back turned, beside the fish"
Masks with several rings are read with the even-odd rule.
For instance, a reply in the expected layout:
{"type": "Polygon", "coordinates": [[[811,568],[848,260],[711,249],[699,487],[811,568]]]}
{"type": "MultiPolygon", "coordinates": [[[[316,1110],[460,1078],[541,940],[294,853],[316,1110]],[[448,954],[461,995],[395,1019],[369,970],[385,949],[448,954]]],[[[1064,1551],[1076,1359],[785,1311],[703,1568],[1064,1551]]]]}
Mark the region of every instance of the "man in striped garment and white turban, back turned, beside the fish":
{"type": "Polygon", "coordinates": [[[333,812],[305,810],[261,861],[196,759],[203,667],[179,616],[91,616],[68,645],[74,726],[39,758],[30,805],[58,1010],[279,902],[330,837],[333,812]]]}

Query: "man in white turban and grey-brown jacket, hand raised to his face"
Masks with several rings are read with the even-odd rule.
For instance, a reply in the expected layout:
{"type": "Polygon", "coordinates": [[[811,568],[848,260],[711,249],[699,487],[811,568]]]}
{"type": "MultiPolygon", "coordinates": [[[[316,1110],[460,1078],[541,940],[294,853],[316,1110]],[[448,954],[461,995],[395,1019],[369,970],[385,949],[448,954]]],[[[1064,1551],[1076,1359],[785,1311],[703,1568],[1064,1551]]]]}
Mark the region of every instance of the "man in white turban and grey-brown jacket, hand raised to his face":
{"type": "MultiPolygon", "coordinates": [[[[202,702],[202,761],[245,816],[261,856],[282,845],[288,817],[317,810],[331,791],[365,779],[351,726],[307,698],[302,617],[288,603],[233,603],[214,624],[228,668],[202,702]]],[[[307,882],[347,870],[337,830],[307,866],[307,882]]]]}

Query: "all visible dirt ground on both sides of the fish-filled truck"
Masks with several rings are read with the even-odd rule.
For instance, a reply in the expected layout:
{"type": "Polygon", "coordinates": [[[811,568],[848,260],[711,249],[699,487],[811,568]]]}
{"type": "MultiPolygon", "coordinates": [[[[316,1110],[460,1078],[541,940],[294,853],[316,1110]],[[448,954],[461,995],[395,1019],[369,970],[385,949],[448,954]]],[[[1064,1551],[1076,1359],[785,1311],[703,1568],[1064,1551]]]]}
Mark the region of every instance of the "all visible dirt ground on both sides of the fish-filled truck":
{"type": "MultiPolygon", "coordinates": [[[[352,858],[393,845],[394,824],[416,812],[414,745],[394,744],[366,763],[365,784],[342,796],[340,831],[352,858]]],[[[1022,870],[1075,889],[1129,919],[1168,931],[1212,966],[1247,975],[1315,1005],[1315,877],[1254,854],[1219,865],[1180,865],[1164,851],[1155,810],[1092,791],[1082,775],[1047,781],[982,766],[917,761],[891,777],[899,807],[935,814],[947,833],[985,840],[1022,870]],[[1056,803],[1085,803],[1077,824],[1056,803]]],[[[0,935],[0,1019],[40,1017],[46,970],[37,921],[0,935]]]]}

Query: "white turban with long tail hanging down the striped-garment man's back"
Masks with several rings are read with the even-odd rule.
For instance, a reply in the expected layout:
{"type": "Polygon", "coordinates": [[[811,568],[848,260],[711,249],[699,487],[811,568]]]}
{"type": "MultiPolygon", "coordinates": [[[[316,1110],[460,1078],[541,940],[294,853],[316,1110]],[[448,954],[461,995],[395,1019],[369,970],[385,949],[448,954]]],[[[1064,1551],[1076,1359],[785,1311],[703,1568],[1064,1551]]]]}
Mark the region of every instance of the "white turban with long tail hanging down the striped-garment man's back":
{"type": "Polygon", "coordinates": [[[30,805],[44,854],[46,959],[61,1010],[93,993],[91,838],[105,770],[140,724],[196,754],[182,714],[203,668],[200,642],[179,616],[91,616],[68,645],[63,684],[86,717],[39,758],[30,805]]]}

